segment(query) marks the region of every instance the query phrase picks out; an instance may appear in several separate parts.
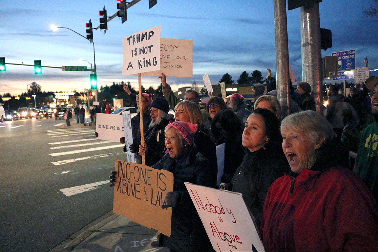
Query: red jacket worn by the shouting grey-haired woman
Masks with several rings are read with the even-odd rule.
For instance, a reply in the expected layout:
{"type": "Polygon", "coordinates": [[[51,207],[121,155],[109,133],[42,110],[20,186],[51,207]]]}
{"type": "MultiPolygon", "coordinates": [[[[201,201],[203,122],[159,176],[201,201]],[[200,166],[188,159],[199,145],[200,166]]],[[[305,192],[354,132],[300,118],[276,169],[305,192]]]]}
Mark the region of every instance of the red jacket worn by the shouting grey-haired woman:
{"type": "Polygon", "coordinates": [[[378,251],[375,201],[358,176],[344,167],[292,175],[277,179],[266,196],[266,251],[378,251]]]}

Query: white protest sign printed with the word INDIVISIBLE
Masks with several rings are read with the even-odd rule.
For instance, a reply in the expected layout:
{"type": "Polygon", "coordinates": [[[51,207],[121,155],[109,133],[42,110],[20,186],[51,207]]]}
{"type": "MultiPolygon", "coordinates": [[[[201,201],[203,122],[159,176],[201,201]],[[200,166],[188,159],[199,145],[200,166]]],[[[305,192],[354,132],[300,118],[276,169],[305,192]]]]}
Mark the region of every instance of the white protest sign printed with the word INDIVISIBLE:
{"type": "Polygon", "coordinates": [[[125,136],[123,130],[121,114],[97,113],[96,132],[99,139],[119,142],[119,138],[125,136]]]}

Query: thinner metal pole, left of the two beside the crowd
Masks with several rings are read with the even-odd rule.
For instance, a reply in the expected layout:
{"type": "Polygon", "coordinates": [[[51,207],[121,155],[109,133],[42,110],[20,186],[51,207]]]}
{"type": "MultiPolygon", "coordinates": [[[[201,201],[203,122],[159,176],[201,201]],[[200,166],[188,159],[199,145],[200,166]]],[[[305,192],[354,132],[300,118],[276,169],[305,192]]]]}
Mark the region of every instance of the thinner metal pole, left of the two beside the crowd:
{"type": "Polygon", "coordinates": [[[276,40],[277,99],[282,118],[290,113],[289,48],[287,39],[286,0],[273,0],[274,39],[276,40]]]}

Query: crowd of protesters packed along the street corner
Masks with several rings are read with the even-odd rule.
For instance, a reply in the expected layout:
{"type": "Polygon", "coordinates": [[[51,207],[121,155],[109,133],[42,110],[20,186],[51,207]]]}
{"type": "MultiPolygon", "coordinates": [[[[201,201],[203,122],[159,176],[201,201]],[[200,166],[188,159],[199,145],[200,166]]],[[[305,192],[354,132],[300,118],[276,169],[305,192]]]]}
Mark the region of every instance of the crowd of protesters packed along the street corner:
{"type": "MultiPolygon", "coordinates": [[[[369,77],[358,94],[352,88],[352,102],[344,102],[331,86],[324,115],[315,111],[311,86],[301,82],[291,90],[297,102],[292,100],[285,118],[271,73],[268,93],[263,84],[253,85],[251,110],[239,93],[226,101],[209,94],[204,104],[195,90],[187,90],[180,101],[166,76],[160,78],[165,99],[142,94],[143,104],[137,105],[146,122],[144,145],[139,113],[132,120],[130,145],[136,162],[145,155],[146,165],[174,173],[174,190],[162,206],[172,207],[171,235],[160,234],[153,246],[211,251],[184,186],[191,182],[242,193],[266,251],[378,251],[377,77],[369,77]],[[342,133],[362,120],[366,109],[359,106],[369,90],[374,122],[364,130],[355,167],[350,167],[342,133]],[[220,144],[225,144],[223,157],[215,155],[220,144]],[[220,183],[217,158],[224,159],[220,183]]],[[[127,86],[124,90],[130,95],[127,86]]]]}

